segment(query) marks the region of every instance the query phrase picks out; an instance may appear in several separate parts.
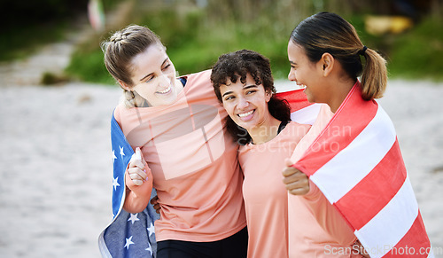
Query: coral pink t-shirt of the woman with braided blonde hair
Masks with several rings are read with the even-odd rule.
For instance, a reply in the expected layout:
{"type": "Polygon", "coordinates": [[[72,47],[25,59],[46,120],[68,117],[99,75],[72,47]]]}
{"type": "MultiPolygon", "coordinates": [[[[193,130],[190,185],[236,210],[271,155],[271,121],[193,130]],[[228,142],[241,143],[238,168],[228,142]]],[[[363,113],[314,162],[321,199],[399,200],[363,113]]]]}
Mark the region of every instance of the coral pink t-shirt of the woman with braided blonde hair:
{"type": "Polygon", "coordinates": [[[210,74],[188,75],[171,105],[114,111],[128,143],[141,148],[152,170],[161,207],[157,241],[216,241],[246,226],[238,146],[223,129],[228,114],[210,74]]]}

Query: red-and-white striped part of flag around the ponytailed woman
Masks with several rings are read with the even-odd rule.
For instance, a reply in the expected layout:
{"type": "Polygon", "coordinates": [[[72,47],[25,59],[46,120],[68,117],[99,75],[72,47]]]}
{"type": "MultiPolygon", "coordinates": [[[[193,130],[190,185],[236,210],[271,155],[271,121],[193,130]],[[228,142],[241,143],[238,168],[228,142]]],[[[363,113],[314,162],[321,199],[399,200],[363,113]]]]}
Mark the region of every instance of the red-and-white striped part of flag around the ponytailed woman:
{"type": "MultiPolygon", "coordinates": [[[[314,109],[301,93],[286,93],[295,96],[296,113],[314,109]]],[[[370,257],[433,257],[392,121],[377,101],[361,98],[360,82],[293,166],[345,217],[370,257]]]]}

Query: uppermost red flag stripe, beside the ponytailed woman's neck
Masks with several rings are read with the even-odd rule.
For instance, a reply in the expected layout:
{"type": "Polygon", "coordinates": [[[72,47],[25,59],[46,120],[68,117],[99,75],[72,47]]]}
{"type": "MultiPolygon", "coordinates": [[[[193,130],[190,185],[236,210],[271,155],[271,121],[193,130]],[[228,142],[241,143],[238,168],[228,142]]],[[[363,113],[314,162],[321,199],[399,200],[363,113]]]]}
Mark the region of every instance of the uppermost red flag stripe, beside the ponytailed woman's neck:
{"type": "Polygon", "coordinates": [[[295,168],[299,168],[299,170],[307,173],[307,176],[316,173],[317,170],[333,159],[338,152],[344,150],[355,137],[360,135],[368,123],[373,120],[377,113],[377,102],[369,103],[362,98],[354,97],[354,95],[359,94],[361,94],[360,90],[354,87],[344,100],[342,106],[338,108],[338,111],[332,117],[329,124],[323,129],[323,132],[307,149],[306,154],[311,153],[309,159],[315,156],[315,162],[312,162],[312,160],[305,162],[305,154],[305,156],[299,160],[298,165],[294,166],[295,168]],[[353,108],[343,108],[343,106],[346,105],[353,106],[353,108]],[[359,115],[355,116],[355,113],[359,113],[359,115]],[[350,119],[352,121],[350,121],[350,119]]]}

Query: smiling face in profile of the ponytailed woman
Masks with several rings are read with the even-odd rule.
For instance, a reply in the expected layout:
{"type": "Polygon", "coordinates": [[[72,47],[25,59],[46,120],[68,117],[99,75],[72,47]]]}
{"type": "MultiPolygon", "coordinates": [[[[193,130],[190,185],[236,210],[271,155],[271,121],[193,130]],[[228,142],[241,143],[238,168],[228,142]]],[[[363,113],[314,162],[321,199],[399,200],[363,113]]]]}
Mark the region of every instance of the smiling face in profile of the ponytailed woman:
{"type": "Polygon", "coordinates": [[[324,87],[323,63],[312,63],[307,59],[303,48],[291,40],[288,43],[288,59],[291,63],[291,71],[288,79],[305,88],[305,94],[309,102],[326,103],[330,95],[327,87],[324,87]]]}

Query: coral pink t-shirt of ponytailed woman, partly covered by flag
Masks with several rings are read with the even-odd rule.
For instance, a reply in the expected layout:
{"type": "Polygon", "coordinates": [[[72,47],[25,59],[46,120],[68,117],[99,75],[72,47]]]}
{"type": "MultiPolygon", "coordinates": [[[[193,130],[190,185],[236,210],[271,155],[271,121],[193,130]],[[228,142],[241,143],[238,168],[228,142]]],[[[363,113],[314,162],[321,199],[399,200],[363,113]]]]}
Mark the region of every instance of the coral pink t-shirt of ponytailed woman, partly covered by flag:
{"type": "MultiPolygon", "coordinates": [[[[301,158],[332,116],[330,107],[322,105],[312,128],[296,146],[292,162],[301,158]]],[[[288,193],[288,223],[289,257],[361,257],[354,255],[354,231],[312,182],[306,195],[288,193]]]]}

